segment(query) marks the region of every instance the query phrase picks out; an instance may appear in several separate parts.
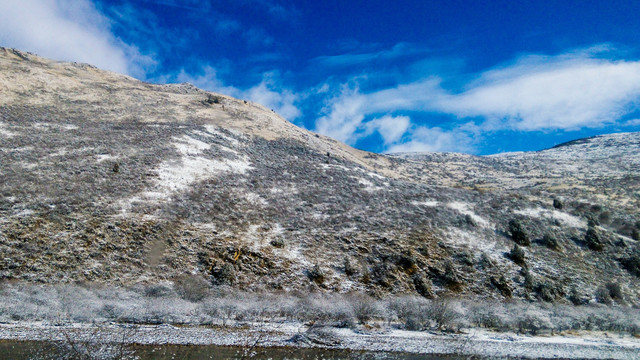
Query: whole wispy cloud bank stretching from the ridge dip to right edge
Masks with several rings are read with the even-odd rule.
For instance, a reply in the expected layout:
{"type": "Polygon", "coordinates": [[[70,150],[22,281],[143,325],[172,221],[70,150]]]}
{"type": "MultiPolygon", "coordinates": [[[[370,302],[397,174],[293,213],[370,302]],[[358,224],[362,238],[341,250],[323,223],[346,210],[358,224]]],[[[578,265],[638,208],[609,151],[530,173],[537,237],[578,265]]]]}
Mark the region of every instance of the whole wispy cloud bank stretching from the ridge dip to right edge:
{"type": "Polygon", "coordinates": [[[376,131],[387,151],[469,151],[496,131],[622,124],[621,118],[640,104],[640,61],[607,57],[615,51],[604,49],[524,56],[477,74],[457,91],[433,75],[368,93],[343,85],[328,100],[315,129],[352,145],[376,131]],[[407,126],[407,112],[422,118],[448,115],[450,121],[436,127],[410,119],[407,126]],[[385,126],[378,126],[382,118],[385,126]]]}

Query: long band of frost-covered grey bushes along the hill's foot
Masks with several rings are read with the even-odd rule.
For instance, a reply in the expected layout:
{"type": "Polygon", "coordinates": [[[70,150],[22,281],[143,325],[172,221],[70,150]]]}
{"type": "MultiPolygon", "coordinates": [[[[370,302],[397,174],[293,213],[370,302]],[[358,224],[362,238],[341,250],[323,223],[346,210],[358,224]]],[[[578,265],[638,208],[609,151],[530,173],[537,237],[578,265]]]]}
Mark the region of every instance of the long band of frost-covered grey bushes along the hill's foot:
{"type": "MultiPolygon", "coordinates": [[[[616,283],[598,290],[599,301],[618,298],[616,283]]],[[[518,300],[427,300],[391,296],[377,300],[364,294],[255,293],[230,288],[210,291],[195,303],[176,293],[94,285],[4,284],[0,287],[0,321],[52,323],[123,322],[135,324],[216,324],[299,321],[321,327],[355,327],[385,321],[406,330],[451,330],[483,327],[530,334],[598,330],[637,334],[640,309],[618,304],[573,306],[518,300]]],[[[555,294],[557,295],[557,294],[555,294]]]]}

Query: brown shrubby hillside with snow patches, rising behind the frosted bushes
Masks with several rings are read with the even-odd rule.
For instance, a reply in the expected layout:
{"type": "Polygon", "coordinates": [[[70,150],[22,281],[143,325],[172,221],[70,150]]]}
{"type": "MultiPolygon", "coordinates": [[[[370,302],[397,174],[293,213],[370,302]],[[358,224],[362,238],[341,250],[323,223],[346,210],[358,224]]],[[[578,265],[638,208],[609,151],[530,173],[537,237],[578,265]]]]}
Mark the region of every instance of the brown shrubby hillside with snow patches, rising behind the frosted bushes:
{"type": "Polygon", "coordinates": [[[640,302],[637,133],[384,156],[189,84],[4,48],[0,94],[4,279],[574,302],[618,284],[640,302]]]}

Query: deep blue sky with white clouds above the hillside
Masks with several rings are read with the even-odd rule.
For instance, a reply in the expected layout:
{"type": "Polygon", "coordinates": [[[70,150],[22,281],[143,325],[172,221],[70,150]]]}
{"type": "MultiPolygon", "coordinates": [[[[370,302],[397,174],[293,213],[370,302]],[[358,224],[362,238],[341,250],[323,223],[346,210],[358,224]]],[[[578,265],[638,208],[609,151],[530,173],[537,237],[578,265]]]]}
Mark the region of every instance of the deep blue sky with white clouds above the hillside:
{"type": "Polygon", "coordinates": [[[0,0],[0,45],[273,108],[374,152],[640,131],[640,2],[0,0]]]}

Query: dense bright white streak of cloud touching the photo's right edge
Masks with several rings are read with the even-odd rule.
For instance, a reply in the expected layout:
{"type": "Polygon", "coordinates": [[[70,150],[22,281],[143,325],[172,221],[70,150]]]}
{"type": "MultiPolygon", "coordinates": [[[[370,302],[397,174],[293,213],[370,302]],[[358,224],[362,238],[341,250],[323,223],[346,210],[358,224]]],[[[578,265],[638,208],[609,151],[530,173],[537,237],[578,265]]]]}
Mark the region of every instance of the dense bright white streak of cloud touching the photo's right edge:
{"type": "Polygon", "coordinates": [[[599,127],[640,100],[640,62],[537,58],[483,74],[472,87],[433,104],[460,117],[481,116],[488,130],[599,127]]]}

